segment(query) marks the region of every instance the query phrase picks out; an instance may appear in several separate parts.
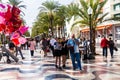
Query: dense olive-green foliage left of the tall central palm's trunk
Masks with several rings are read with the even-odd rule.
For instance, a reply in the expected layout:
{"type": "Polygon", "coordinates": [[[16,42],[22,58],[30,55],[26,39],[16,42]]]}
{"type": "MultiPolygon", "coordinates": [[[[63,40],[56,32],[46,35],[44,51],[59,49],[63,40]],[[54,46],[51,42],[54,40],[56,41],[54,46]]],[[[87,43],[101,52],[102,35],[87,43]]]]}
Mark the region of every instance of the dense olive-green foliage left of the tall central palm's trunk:
{"type": "Polygon", "coordinates": [[[49,19],[47,14],[39,13],[37,20],[33,24],[32,36],[37,36],[42,33],[48,33],[49,19]]]}

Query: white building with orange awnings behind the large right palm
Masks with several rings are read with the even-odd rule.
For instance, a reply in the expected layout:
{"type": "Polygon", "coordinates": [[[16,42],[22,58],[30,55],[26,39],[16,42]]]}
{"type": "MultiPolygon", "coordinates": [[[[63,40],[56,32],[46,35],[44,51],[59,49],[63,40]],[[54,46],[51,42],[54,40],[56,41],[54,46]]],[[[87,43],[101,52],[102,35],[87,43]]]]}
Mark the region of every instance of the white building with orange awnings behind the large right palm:
{"type": "MultiPolygon", "coordinates": [[[[105,19],[120,17],[120,0],[108,0],[102,11],[103,14],[109,13],[105,19]]],[[[89,38],[89,28],[82,29],[80,34],[89,38]]],[[[104,35],[106,37],[112,37],[114,40],[120,40],[120,21],[111,20],[99,24],[96,27],[95,34],[96,38],[102,37],[104,35]]]]}

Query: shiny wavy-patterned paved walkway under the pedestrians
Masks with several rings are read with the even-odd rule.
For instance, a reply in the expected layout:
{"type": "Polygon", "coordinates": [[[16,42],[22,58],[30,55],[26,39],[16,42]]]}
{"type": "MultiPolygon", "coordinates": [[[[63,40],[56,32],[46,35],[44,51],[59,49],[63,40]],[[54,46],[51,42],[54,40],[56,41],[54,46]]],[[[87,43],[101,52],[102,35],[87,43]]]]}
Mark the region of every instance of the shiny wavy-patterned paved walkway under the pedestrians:
{"type": "MultiPolygon", "coordinates": [[[[97,48],[97,52],[101,49],[97,48]]],[[[97,55],[95,60],[82,61],[83,71],[73,71],[71,60],[67,60],[67,67],[63,70],[55,68],[55,59],[49,53],[48,57],[43,57],[39,50],[34,57],[30,57],[28,50],[23,50],[24,60],[18,63],[0,62],[0,80],[120,80],[120,53],[115,52],[113,59],[108,56],[103,59],[102,55],[97,55]]],[[[101,53],[100,53],[101,54],[101,53]]]]}

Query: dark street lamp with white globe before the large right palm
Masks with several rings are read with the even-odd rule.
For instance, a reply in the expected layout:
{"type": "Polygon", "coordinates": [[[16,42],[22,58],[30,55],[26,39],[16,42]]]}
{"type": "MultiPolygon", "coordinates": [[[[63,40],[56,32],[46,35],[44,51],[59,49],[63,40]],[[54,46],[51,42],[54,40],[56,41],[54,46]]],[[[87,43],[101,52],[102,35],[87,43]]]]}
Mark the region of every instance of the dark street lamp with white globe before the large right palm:
{"type": "MultiPolygon", "coordinates": [[[[91,15],[93,13],[93,9],[91,8],[91,6],[89,6],[88,10],[88,15],[89,15],[89,26],[90,26],[90,52],[89,52],[89,56],[88,58],[89,59],[95,59],[95,56],[94,56],[94,53],[93,53],[93,47],[92,47],[92,29],[93,29],[93,26],[92,26],[92,21],[91,21],[91,15]]],[[[95,34],[95,33],[94,33],[95,34]]]]}

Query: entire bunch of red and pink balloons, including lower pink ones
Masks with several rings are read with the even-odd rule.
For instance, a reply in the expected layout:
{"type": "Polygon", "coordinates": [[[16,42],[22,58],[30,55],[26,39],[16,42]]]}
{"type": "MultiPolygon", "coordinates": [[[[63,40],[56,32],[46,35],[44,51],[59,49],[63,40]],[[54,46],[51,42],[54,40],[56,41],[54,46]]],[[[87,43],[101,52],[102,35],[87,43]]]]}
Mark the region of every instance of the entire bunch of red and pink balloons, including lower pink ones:
{"type": "Polygon", "coordinates": [[[15,45],[25,43],[22,35],[28,30],[28,27],[21,26],[20,9],[16,6],[0,3],[0,32],[10,35],[15,45]],[[18,43],[16,43],[16,40],[18,43]]]}

